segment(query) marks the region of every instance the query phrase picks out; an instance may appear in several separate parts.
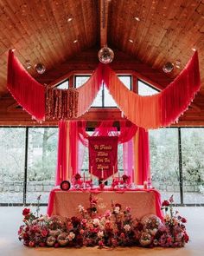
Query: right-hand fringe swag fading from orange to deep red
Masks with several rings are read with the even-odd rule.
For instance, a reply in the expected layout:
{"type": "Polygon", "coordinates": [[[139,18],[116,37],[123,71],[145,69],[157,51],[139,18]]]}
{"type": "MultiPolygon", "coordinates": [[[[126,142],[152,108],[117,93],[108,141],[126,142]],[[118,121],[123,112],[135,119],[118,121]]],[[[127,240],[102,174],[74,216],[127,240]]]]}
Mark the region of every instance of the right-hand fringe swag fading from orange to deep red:
{"type": "Polygon", "coordinates": [[[107,65],[104,65],[103,74],[105,85],[124,115],[138,127],[145,129],[169,126],[177,121],[201,88],[197,52],[180,75],[156,95],[141,96],[130,91],[107,65]]]}

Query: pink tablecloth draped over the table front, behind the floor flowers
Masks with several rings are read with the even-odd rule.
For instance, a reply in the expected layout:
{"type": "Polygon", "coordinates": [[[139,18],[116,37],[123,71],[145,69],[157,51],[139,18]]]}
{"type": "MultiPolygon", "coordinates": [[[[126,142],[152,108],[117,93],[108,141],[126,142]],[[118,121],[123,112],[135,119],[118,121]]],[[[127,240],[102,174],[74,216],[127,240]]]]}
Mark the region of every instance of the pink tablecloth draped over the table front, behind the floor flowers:
{"type": "Polygon", "coordinates": [[[94,197],[98,198],[99,213],[104,213],[106,209],[112,210],[113,201],[113,203],[121,204],[123,209],[131,207],[132,216],[137,219],[141,219],[147,214],[156,214],[163,219],[161,196],[155,189],[62,191],[55,188],[49,194],[48,215],[62,217],[79,215],[79,205],[85,208],[89,207],[91,192],[94,197]]]}

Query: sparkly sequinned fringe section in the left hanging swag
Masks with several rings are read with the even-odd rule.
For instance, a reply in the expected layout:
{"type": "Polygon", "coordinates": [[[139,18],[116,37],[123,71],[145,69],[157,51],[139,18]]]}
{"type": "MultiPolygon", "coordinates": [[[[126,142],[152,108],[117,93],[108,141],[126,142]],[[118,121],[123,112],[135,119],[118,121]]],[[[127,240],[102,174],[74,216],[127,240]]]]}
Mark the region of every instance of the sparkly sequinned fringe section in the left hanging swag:
{"type": "Polygon", "coordinates": [[[77,89],[46,90],[46,119],[66,120],[78,115],[79,92],[77,89]]]}

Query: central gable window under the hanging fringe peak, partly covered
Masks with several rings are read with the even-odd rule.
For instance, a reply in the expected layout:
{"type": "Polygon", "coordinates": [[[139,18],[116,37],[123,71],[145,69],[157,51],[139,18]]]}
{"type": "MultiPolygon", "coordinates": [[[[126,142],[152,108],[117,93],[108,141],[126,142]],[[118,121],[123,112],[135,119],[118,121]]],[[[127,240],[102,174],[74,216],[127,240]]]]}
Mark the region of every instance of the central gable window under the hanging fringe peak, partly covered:
{"type": "MultiPolygon", "coordinates": [[[[82,84],[84,84],[90,75],[76,75],[75,76],[75,86],[79,88],[82,84]]],[[[118,75],[118,78],[124,83],[124,85],[131,89],[131,75],[118,75]]],[[[113,100],[112,95],[109,93],[108,89],[106,89],[103,84],[99,89],[99,93],[96,96],[95,100],[92,102],[92,107],[95,108],[112,108],[117,107],[116,102],[113,100]]]]}

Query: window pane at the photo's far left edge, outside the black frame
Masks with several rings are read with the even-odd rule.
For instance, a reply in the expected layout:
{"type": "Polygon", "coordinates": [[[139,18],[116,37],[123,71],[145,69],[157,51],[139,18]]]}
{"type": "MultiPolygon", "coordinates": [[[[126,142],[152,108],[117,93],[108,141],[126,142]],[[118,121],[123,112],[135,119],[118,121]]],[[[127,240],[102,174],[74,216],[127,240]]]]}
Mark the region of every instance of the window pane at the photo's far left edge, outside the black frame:
{"type": "Polygon", "coordinates": [[[25,128],[0,128],[0,203],[22,203],[25,128]]]}

